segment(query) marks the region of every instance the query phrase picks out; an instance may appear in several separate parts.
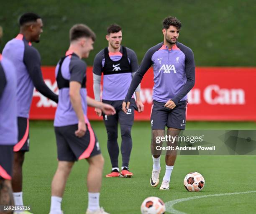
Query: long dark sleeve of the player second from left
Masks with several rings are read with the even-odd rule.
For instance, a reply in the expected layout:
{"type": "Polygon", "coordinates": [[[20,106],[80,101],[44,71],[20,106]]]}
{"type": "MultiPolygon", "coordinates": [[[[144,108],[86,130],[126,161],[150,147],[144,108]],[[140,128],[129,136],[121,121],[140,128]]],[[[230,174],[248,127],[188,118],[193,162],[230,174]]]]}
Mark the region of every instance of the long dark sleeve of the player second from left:
{"type": "Polygon", "coordinates": [[[33,84],[38,90],[38,92],[43,94],[45,97],[53,100],[54,102],[58,103],[58,95],[54,94],[54,92],[52,92],[51,89],[49,89],[44,82],[41,71],[40,54],[38,53],[36,48],[33,48],[31,46],[28,46],[28,44],[25,44],[23,62],[26,65],[29,76],[31,77],[33,84]]]}

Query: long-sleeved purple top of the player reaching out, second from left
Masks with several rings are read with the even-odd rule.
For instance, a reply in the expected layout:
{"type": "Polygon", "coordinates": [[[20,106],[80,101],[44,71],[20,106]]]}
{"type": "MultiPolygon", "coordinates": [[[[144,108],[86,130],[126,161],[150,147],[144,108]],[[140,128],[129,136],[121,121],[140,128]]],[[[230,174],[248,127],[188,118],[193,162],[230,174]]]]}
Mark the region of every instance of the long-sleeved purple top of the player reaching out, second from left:
{"type": "Polygon", "coordinates": [[[3,57],[9,59],[15,66],[18,117],[28,118],[34,86],[45,97],[58,102],[58,96],[44,83],[39,52],[26,41],[23,34],[18,34],[16,38],[6,43],[3,57]]]}

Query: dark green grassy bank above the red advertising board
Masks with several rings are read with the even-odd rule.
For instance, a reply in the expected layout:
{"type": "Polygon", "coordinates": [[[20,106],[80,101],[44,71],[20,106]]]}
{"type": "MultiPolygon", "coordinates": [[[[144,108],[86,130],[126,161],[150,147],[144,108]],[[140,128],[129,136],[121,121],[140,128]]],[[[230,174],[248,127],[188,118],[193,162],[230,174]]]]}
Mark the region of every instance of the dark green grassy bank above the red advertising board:
{"type": "Polygon", "coordinates": [[[163,41],[161,22],[169,15],[182,22],[179,41],[192,48],[197,66],[256,66],[254,0],[12,0],[1,2],[3,45],[18,33],[18,17],[33,11],[44,21],[41,42],[33,44],[42,65],[56,65],[69,46],[69,29],[75,23],[89,25],[97,35],[95,49],[107,46],[106,29],[112,23],[123,28],[123,45],[132,48],[141,62],[148,48],[163,41]]]}

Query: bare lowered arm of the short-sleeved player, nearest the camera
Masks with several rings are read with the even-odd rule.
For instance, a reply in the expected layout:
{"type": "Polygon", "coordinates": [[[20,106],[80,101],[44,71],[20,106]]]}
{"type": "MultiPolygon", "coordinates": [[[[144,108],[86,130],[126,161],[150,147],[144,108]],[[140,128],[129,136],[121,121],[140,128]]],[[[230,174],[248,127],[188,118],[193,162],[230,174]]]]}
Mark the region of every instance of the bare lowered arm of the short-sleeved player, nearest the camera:
{"type": "Polygon", "coordinates": [[[72,107],[76,112],[77,118],[80,122],[84,122],[84,112],[82,109],[81,95],[80,95],[81,84],[79,82],[69,83],[69,96],[72,107]]]}

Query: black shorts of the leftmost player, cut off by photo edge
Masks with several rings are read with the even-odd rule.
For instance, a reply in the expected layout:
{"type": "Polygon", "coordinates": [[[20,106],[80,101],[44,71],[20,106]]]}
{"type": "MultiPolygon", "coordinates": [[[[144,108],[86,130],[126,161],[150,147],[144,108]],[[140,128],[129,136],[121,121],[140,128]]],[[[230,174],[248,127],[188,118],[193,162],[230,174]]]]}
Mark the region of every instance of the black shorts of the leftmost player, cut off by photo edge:
{"type": "Polygon", "coordinates": [[[13,145],[0,145],[0,178],[11,180],[13,171],[13,145]]]}

